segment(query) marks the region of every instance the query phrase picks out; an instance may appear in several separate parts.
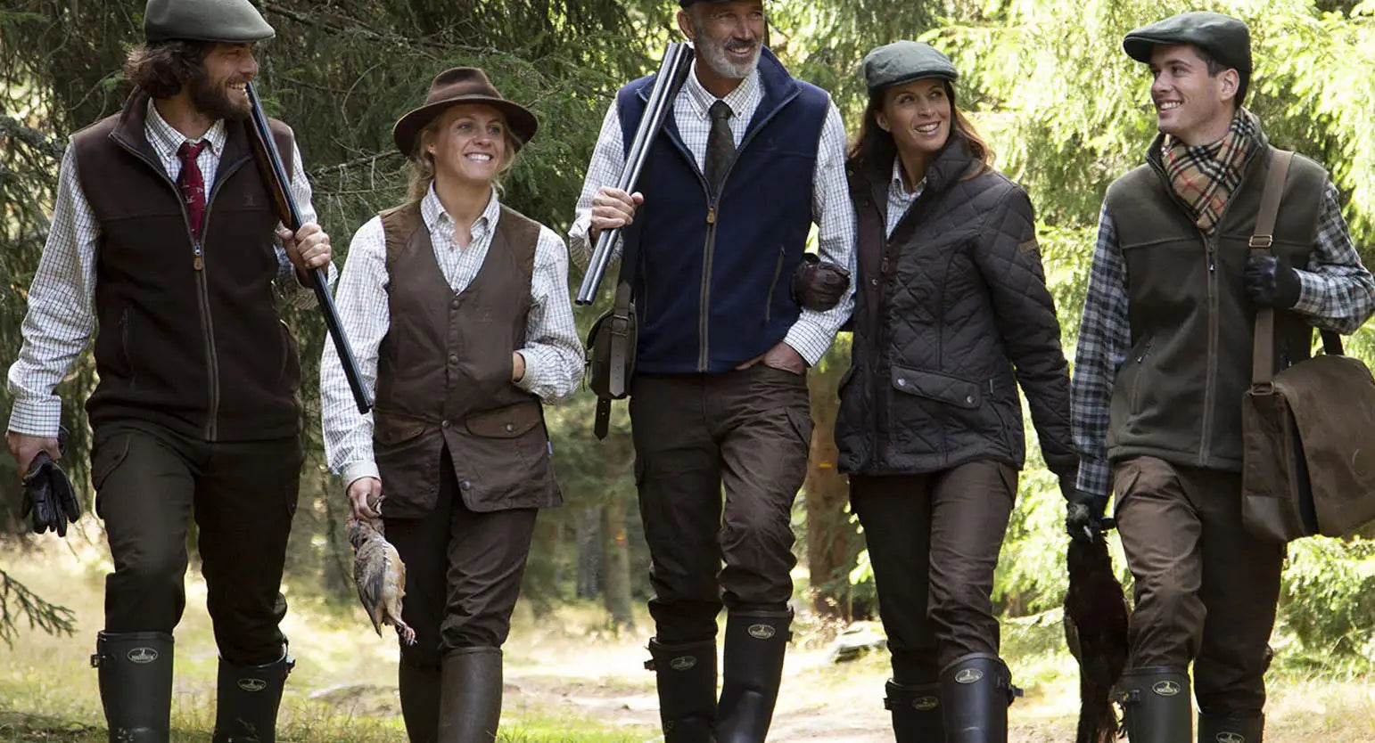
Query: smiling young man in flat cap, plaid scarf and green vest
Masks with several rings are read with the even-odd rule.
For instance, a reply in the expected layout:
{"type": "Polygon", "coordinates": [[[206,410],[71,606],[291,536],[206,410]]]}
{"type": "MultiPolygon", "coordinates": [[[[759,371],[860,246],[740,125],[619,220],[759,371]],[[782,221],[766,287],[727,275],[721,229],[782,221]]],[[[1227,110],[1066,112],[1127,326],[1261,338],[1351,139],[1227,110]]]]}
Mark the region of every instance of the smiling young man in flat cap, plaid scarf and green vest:
{"type": "Polygon", "coordinates": [[[1284,547],[1242,523],[1243,393],[1255,310],[1277,310],[1276,361],[1309,356],[1312,328],[1352,332],[1375,282],[1352,246],[1336,188],[1295,157],[1275,257],[1250,257],[1272,150],[1242,107],[1250,32],[1187,12],[1133,30],[1151,66],[1159,136],[1108,187],[1072,382],[1082,450],[1067,526],[1097,529],[1110,489],[1136,577],[1123,694],[1132,743],[1257,743],[1266,641],[1284,547]]]}

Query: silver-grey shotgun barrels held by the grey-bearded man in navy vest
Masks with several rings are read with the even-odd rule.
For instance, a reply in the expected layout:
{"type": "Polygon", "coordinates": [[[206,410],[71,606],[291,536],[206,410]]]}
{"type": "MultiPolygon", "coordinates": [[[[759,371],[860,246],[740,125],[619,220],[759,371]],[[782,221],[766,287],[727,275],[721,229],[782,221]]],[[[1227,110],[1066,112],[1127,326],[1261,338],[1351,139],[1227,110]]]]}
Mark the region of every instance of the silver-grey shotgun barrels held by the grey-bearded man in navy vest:
{"type": "MultiPolygon", "coordinates": [[[[626,166],[620,172],[616,187],[626,192],[632,192],[639,181],[639,172],[645,168],[645,157],[653,144],[659,130],[664,126],[664,118],[672,106],[674,98],[688,78],[692,69],[692,47],[681,41],[670,41],[664,59],[659,65],[659,74],[654,76],[654,85],[649,91],[649,100],[645,106],[645,115],[635,128],[635,137],[630,140],[630,150],[626,152],[626,166]]],[[[610,264],[610,257],[620,243],[620,229],[604,229],[597,236],[597,247],[587,262],[587,273],[583,275],[583,286],[578,290],[579,305],[591,305],[597,301],[597,288],[601,287],[602,275],[610,264]]]]}

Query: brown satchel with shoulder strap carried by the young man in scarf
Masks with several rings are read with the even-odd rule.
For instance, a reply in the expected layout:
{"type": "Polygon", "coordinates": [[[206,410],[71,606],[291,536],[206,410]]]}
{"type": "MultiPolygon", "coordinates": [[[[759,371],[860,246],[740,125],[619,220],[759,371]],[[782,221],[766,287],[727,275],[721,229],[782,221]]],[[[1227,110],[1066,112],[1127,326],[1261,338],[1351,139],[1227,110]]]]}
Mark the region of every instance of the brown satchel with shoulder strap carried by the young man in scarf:
{"type": "MultiPolygon", "coordinates": [[[[1276,151],[1251,236],[1269,255],[1292,152],[1276,151]]],[[[1287,542],[1341,537],[1375,519],[1375,379],[1321,331],[1321,356],[1275,374],[1275,310],[1255,313],[1251,389],[1242,401],[1242,519],[1287,542]]]]}

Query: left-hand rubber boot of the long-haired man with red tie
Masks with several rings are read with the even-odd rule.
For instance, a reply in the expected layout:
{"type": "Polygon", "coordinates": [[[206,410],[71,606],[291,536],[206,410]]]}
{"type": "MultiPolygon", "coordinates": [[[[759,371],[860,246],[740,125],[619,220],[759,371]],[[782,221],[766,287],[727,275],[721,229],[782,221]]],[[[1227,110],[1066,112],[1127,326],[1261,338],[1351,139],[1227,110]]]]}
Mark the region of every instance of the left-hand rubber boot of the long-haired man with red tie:
{"type": "Polygon", "coordinates": [[[165,632],[96,635],[91,665],[99,669],[110,743],[166,743],[170,738],[172,647],[165,632]]]}

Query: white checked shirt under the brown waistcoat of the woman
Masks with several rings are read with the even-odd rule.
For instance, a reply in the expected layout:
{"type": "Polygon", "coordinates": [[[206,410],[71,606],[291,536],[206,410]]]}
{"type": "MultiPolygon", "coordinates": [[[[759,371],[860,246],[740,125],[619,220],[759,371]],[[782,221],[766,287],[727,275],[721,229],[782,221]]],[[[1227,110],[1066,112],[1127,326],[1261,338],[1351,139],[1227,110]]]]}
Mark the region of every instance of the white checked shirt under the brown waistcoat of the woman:
{"type": "MultiPolygon", "coordinates": [[[[430,232],[434,260],[455,294],[468,288],[487,260],[502,216],[500,206],[494,191],[487,209],[473,222],[472,242],[461,247],[454,240],[454,218],[444,212],[434,187],[430,185],[421,199],[421,218],[430,232]]],[[[377,389],[378,347],[390,325],[389,282],[382,218],[373,217],[353,233],[334,298],[340,325],[353,345],[363,386],[368,391],[377,389]]],[[[525,357],[525,376],[516,386],[554,401],[578,387],[583,375],[583,345],[578,339],[573,304],[568,298],[568,251],[564,240],[547,227],[540,227],[535,247],[531,299],[525,347],[518,349],[525,357]]],[[[320,360],[320,423],[331,470],[341,472],[346,482],[363,477],[381,479],[373,459],[373,413],[359,415],[333,347],[324,349],[320,360]]]]}

